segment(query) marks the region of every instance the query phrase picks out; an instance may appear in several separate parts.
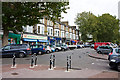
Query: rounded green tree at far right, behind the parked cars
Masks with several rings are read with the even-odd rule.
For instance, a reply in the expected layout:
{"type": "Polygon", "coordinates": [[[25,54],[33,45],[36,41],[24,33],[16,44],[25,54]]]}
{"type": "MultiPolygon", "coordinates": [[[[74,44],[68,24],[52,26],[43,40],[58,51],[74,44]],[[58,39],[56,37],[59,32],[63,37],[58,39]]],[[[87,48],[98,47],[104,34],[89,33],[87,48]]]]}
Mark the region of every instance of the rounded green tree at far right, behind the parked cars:
{"type": "Polygon", "coordinates": [[[103,14],[99,16],[98,19],[98,41],[114,42],[114,40],[117,40],[119,35],[118,19],[110,14],[103,14]]]}

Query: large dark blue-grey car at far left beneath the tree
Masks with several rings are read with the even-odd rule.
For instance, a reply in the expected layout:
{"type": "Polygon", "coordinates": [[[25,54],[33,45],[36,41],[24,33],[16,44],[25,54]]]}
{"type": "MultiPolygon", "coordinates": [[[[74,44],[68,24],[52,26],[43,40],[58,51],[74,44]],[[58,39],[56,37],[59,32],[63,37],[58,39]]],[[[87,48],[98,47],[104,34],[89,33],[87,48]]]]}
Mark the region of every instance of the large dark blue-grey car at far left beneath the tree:
{"type": "Polygon", "coordinates": [[[12,57],[13,54],[15,54],[16,57],[23,58],[31,54],[31,49],[28,44],[10,44],[0,49],[0,55],[2,57],[12,57]]]}

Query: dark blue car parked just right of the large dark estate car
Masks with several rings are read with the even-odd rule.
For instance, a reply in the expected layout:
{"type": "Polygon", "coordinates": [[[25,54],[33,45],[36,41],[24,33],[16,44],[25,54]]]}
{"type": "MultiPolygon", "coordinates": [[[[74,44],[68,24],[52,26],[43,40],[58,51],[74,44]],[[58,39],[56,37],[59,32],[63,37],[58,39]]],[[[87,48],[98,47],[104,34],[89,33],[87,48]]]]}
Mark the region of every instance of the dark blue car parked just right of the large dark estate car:
{"type": "Polygon", "coordinates": [[[46,52],[44,45],[41,45],[41,44],[30,45],[30,47],[31,47],[32,54],[34,53],[43,54],[46,52]]]}

